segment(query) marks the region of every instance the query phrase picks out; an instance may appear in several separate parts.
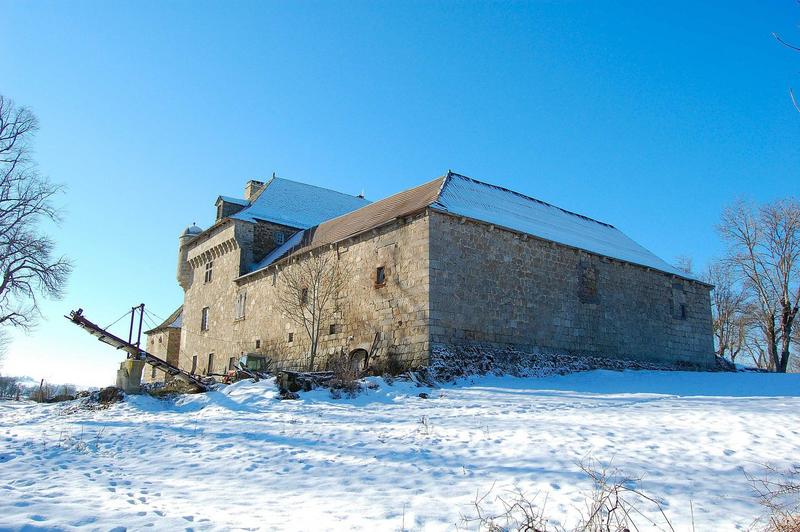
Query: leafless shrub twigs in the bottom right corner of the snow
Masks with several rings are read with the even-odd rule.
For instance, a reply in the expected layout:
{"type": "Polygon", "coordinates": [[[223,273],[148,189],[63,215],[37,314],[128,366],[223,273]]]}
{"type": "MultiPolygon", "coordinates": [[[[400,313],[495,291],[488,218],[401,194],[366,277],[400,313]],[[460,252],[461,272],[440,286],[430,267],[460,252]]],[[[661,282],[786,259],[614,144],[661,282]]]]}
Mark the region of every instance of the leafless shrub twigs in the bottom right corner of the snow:
{"type": "Polygon", "coordinates": [[[778,471],[765,466],[763,474],[747,480],[764,508],[756,524],[766,532],[800,532],[800,466],[778,471]]]}

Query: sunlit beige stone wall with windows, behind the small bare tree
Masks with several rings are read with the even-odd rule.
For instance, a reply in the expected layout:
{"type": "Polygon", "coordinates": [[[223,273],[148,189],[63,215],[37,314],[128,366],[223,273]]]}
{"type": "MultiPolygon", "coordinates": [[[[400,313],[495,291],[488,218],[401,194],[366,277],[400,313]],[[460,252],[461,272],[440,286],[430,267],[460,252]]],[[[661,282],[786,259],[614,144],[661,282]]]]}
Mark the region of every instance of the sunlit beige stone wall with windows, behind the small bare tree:
{"type": "MultiPolygon", "coordinates": [[[[197,357],[196,373],[206,373],[209,354],[214,355],[215,373],[223,372],[231,358],[243,353],[267,354],[283,368],[303,368],[305,364],[307,335],[299,323],[282,314],[276,297],[278,290],[285,290],[280,268],[297,265],[273,267],[234,282],[252,260],[248,249],[252,249],[257,231],[254,226],[234,222],[193,243],[189,251],[192,282],[184,300],[180,355],[184,369],[191,370],[197,357]],[[208,260],[214,263],[213,278],[205,283],[208,260]],[[240,293],[245,294],[241,296],[245,300],[243,318],[236,316],[240,293]],[[204,307],[209,309],[207,331],[200,330],[204,307]]],[[[368,351],[376,333],[375,364],[388,364],[390,359],[403,366],[427,363],[428,240],[427,217],[420,215],[323,250],[341,261],[349,282],[337,300],[337,323],[322,324],[317,369],[325,367],[332,353],[368,351]],[[380,266],[386,282],[376,286],[380,266]],[[330,325],[336,326],[332,334],[330,325]]]]}

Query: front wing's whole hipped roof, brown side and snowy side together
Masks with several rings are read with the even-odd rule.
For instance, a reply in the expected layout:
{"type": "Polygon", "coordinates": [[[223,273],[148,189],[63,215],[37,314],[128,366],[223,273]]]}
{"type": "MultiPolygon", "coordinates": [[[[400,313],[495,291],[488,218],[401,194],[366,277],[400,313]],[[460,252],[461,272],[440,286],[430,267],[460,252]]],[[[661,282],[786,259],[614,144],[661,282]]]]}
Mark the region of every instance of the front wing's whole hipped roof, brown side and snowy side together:
{"type": "Polygon", "coordinates": [[[453,172],[301,231],[255,264],[251,273],[289,255],[340,242],[428,207],[694,279],[634,242],[613,225],[453,172]]]}

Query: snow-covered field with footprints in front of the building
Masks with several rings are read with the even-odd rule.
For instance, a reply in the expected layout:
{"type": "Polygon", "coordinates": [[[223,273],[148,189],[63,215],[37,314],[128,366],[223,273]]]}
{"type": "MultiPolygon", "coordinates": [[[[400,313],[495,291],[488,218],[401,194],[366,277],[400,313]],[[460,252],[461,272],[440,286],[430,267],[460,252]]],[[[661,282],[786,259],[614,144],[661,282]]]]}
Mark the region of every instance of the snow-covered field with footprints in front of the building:
{"type": "Polygon", "coordinates": [[[800,375],[374,382],[350,400],[240,382],[101,411],[0,402],[0,529],[453,529],[493,486],[568,524],[592,457],[643,475],[676,530],[690,501],[696,530],[736,530],[760,512],[744,471],[800,460],[800,375]]]}

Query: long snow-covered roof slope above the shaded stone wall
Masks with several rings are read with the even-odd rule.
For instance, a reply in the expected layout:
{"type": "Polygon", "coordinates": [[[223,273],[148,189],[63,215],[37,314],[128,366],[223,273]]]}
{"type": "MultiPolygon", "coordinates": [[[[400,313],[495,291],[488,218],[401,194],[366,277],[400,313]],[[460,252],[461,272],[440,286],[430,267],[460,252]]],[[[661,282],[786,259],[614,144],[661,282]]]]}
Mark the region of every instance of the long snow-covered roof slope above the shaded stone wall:
{"type": "Polygon", "coordinates": [[[448,175],[439,199],[432,207],[606,257],[691,278],[686,272],[658,258],[612,225],[459,174],[448,175]]]}

